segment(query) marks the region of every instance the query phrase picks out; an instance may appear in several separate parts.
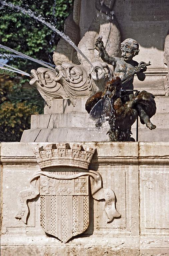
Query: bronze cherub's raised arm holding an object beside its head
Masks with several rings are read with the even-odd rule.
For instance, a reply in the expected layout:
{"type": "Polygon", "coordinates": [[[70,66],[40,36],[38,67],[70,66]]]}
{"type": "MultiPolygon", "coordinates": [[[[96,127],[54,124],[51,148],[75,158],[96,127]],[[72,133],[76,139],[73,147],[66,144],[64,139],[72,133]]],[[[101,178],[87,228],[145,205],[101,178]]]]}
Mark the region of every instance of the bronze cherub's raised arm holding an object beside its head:
{"type": "Polygon", "coordinates": [[[99,56],[101,59],[107,64],[111,64],[113,66],[116,65],[116,59],[114,57],[110,57],[106,52],[106,49],[103,45],[102,36],[99,36],[95,43],[95,49],[99,52],[99,56]]]}

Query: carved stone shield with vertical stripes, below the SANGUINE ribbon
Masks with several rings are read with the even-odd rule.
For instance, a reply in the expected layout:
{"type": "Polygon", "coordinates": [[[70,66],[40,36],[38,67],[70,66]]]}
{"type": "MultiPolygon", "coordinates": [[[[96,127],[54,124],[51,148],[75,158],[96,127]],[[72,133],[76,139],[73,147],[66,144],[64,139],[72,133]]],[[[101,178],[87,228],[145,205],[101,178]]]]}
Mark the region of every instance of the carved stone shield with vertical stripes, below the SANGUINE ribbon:
{"type": "MultiPolygon", "coordinates": [[[[65,173],[66,174],[66,173],[65,173]]],[[[41,226],[66,243],[89,225],[89,177],[56,179],[40,176],[41,226]]]]}

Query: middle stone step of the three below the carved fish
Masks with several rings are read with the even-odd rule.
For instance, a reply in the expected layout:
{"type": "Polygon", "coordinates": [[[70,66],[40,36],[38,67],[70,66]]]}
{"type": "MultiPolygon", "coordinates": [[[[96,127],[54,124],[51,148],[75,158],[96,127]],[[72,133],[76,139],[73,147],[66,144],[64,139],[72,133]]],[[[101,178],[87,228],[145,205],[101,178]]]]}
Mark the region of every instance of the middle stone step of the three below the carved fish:
{"type": "MultiPolygon", "coordinates": [[[[160,129],[169,129],[168,120],[169,113],[156,113],[151,118],[152,123],[160,129]]],[[[106,124],[106,126],[108,126],[108,124],[106,124]]],[[[95,122],[89,118],[88,113],[60,113],[31,116],[31,129],[64,127],[95,128],[95,122]]],[[[136,122],[133,124],[132,128],[136,128],[136,122]]],[[[147,129],[146,125],[142,125],[140,121],[139,128],[147,129]]]]}

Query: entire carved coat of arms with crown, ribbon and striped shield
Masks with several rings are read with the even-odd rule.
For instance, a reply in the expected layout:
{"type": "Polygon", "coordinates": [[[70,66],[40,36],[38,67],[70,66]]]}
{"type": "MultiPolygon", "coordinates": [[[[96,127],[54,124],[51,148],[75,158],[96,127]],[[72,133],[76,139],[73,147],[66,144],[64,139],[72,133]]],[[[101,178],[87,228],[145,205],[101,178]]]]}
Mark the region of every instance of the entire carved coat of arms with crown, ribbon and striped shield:
{"type": "Polygon", "coordinates": [[[47,234],[62,242],[83,233],[89,225],[89,178],[93,198],[105,200],[107,222],[120,216],[115,208],[114,192],[102,188],[99,172],[88,170],[95,149],[81,149],[77,144],[69,149],[62,143],[34,149],[42,171],[35,174],[30,188],[18,197],[16,218],[27,223],[27,200],[40,194],[41,226],[47,234]]]}

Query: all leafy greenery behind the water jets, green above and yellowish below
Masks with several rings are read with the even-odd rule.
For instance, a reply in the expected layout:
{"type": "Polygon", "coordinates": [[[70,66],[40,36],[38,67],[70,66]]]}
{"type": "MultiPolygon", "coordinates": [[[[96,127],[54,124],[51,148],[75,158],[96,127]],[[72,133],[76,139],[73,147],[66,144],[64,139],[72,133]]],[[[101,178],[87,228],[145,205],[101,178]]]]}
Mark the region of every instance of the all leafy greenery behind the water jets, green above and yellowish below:
{"type": "MultiPolygon", "coordinates": [[[[9,1],[7,1],[9,2],[9,1]]],[[[64,20],[73,11],[73,0],[12,0],[13,4],[41,14],[56,28],[64,30],[64,20]],[[56,2],[55,2],[56,1],[56,2]]],[[[0,43],[52,64],[53,51],[59,41],[47,26],[12,10],[0,6],[0,43]]],[[[0,49],[0,54],[12,54],[0,49]]],[[[9,59],[8,65],[30,73],[39,64],[21,58],[9,59]]],[[[22,75],[0,70],[0,141],[20,141],[23,130],[30,129],[31,114],[42,114],[44,101],[38,91],[31,88],[29,79],[22,75]],[[8,74],[6,79],[1,74],[8,74]]]]}

